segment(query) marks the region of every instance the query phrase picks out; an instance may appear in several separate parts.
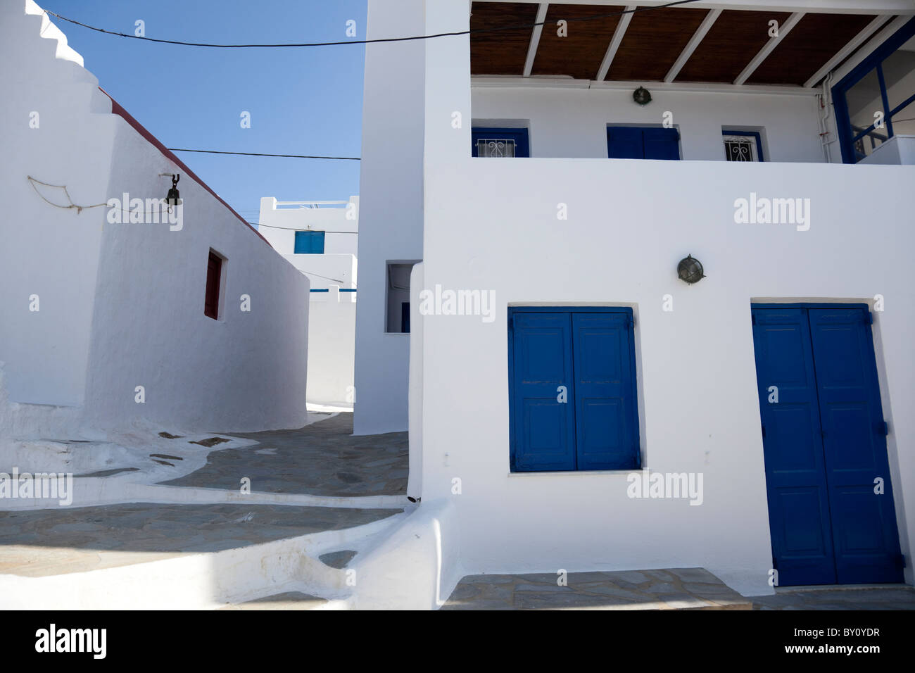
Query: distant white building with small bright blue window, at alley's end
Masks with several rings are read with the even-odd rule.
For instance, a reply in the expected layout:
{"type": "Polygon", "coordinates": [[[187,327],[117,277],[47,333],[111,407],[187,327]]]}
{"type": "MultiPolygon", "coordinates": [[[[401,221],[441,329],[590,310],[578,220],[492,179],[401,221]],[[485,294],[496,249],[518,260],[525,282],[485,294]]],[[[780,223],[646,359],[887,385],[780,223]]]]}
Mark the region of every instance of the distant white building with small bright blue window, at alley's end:
{"type": "Polygon", "coordinates": [[[359,197],[349,201],[261,199],[264,238],[311,282],[307,400],[352,407],[356,346],[359,197]]]}

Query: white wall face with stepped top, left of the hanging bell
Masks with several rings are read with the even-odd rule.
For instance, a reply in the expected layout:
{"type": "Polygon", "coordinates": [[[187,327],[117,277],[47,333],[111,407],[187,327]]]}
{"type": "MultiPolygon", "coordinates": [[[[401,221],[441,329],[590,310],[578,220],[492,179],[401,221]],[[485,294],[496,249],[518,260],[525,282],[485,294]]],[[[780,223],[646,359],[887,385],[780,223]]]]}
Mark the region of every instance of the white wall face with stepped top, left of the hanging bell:
{"type": "Polygon", "coordinates": [[[44,199],[106,201],[115,120],[66,44],[34,3],[0,3],[0,362],[11,402],[79,406],[105,209],[44,199]]]}

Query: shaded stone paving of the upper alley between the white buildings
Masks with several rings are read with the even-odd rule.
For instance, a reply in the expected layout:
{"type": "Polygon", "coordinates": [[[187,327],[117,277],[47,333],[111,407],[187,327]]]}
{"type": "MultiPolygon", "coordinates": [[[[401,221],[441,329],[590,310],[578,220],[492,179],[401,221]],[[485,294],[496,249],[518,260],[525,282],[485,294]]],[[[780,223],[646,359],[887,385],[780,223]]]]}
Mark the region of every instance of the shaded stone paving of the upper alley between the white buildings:
{"type": "Polygon", "coordinates": [[[214,451],[196,472],[164,482],[237,491],[242,477],[262,493],[403,495],[407,479],[407,433],[352,436],[352,414],[295,430],[231,433],[260,442],[214,451]]]}

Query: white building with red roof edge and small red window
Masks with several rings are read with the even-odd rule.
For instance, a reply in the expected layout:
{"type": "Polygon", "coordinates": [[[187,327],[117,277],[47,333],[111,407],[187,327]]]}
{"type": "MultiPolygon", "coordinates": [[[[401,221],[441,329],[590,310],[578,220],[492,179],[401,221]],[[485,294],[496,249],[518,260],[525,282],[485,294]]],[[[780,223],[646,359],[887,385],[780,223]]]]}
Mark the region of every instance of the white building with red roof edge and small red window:
{"type": "Polygon", "coordinates": [[[0,4],[0,44],[0,434],[304,425],[307,278],[99,89],[38,5],[0,4]]]}

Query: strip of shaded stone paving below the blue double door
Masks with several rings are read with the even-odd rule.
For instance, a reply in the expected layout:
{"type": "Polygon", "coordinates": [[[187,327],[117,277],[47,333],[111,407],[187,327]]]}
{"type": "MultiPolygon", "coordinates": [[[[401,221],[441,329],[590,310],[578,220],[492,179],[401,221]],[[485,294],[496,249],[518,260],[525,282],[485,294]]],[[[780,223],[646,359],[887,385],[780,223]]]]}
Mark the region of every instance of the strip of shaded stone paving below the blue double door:
{"type": "Polygon", "coordinates": [[[752,601],[754,610],[915,610],[915,587],[780,588],[752,601]]]}

